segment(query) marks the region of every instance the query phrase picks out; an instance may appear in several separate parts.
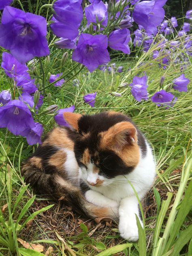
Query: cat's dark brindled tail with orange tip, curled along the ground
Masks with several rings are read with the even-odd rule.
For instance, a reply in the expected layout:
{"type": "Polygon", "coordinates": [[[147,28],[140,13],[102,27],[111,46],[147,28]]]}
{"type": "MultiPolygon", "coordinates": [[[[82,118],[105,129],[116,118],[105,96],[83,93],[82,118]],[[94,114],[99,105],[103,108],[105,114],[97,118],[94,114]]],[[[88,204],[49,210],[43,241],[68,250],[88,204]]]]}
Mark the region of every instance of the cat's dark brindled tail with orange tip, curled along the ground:
{"type": "Polygon", "coordinates": [[[118,210],[115,207],[97,207],[88,203],[81,190],[73,186],[61,176],[54,173],[47,174],[38,168],[37,164],[27,161],[22,168],[21,174],[26,183],[30,183],[37,194],[45,195],[54,201],[61,201],[64,205],[89,218],[111,218],[118,220],[118,210]]]}

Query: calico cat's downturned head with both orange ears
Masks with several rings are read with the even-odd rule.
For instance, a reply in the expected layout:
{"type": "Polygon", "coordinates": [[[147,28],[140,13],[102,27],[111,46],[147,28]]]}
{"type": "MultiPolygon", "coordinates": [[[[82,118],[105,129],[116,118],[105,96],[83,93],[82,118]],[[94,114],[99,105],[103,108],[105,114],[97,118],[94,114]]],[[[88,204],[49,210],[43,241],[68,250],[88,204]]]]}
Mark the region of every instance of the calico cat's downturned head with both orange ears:
{"type": "Polygon", "coordinates": [[[78,134],[75,157],[82,178],[90,186],[106,186],[137,166],[138,131],[126,115],[111,111],[95,115],[65,112],[64,118],[78,134]]]}

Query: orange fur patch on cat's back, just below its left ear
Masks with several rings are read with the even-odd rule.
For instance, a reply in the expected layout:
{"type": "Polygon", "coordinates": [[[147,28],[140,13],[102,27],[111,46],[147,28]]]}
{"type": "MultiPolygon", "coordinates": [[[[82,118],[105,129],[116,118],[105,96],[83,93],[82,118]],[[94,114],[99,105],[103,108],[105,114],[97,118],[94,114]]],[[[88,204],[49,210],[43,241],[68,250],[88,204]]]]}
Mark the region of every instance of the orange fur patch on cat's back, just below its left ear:
{"type": "Polygon", "coordinates": [[[43,142],[43,145],[46,144],[54,145],[55,147],[66,147],[72,150],[74,148],[74,142],[68,137],[67,131],[60,127],[52,130],[49,137],[43,142]]]}

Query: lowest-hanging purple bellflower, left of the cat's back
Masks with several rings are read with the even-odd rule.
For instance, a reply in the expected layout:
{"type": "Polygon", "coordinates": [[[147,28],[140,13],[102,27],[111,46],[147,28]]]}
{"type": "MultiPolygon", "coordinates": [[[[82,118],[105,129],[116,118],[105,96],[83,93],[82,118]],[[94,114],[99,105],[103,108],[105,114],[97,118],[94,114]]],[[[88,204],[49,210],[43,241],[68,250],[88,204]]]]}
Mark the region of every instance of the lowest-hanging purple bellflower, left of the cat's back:
{"type": "Polygon", "coordinates": [[[21,136],[26,137],[29,145],[34,145],[36,143],[41,144],[41,135],[43,133],[43,125],[39,123],[35,123],[33,128],[27,128],[23,132],[21,132],[21,136]]]}

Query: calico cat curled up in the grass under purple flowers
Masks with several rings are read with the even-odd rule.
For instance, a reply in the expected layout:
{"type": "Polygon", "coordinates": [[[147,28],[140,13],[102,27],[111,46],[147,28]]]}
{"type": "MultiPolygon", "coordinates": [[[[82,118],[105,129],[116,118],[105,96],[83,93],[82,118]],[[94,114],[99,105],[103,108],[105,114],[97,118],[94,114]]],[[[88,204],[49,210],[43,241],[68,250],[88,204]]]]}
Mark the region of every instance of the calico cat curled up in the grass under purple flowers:
{"type": "MultiPolygon", "coordinates": [[[[90,218],[119,219],[120,235],[138,240],[135,214],[156,175],[145,137],[122,113],[64,113],[70,127],[56,127],[25,162],[22,174],[35,192],[90,218]]],[[[139,217],[142,224],[142,220],[139,217]]]]}

